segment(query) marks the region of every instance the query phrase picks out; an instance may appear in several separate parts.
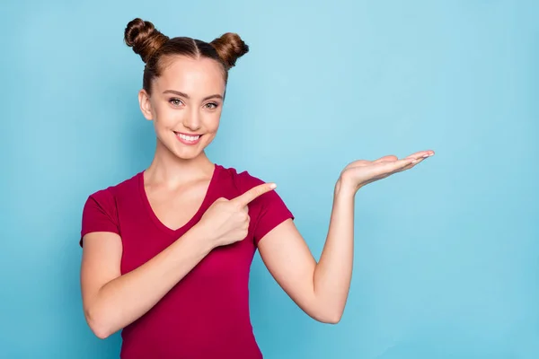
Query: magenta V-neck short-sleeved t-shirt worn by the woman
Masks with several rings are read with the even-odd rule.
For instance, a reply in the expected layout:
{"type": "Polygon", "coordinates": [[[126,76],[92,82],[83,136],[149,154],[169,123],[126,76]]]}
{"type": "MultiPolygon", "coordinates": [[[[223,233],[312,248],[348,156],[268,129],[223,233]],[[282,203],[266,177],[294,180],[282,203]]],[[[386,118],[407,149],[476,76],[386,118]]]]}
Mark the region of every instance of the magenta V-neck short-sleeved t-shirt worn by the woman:
{"type": "MultiPolygon", "coordinates": [[[[121,274],[146,263],[198,223],[218,198],[232,199],[261,183],[247,171],[215,165],[198,212],[178,230],[159,221],[144,189],[144,172],[102,189],[84,205],[81,238],[89,232],[121,237],[121,274]]],[[[212,250],[144,316],[123,328],[120,357],[261,358],[249,313],[249,272],[258,242],[288,218],[275,190],[249,205],[247,237],[212,250]]],[[[81,242],[82,245],[82,242],[81,242]]]]}

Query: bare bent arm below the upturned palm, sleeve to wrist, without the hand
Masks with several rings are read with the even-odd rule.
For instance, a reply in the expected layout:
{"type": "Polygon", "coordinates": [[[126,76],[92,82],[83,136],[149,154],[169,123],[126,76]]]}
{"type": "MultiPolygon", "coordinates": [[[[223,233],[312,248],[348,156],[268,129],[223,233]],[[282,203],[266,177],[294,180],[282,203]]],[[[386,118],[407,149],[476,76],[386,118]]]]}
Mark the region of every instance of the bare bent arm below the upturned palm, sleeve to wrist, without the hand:
{"type": "Polygon", "coordinates": [[[316,263],[288,219],[259,242],[266,267],[290,298],[314,320],[337,323],[349,293],[354,253],[354,196],[335,190],[331,222],[316,263]]]}

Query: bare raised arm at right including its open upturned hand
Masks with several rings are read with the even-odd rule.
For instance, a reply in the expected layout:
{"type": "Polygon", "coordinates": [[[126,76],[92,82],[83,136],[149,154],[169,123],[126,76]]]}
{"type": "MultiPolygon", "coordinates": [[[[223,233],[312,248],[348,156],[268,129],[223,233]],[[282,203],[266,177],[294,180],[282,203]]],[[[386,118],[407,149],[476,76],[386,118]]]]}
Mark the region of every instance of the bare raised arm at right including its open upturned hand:
{"type": "Polygon", "coordinates": [[[354,253],[354,199],[359,188],[393,173],[409,170],[432,151],[398,160],[350,163],[334,190],[330,227],[318,263],[291,219],[259,241],[261,258],[271,275],[296,304],[314,320],[338,323],[348,298],[354,253]]]}

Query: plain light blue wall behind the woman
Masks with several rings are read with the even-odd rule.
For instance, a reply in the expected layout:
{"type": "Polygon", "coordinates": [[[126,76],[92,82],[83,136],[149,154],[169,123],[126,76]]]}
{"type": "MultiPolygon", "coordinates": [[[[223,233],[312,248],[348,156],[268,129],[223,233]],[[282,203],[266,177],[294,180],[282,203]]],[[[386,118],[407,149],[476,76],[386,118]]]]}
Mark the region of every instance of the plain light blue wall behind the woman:
{"type": "Polygon", "coordinates": [[[11,1],[0,89],[0,357],[114,358],[87,328],[86,197],[141,171],[155,134],[142,17],[251,46],[230,73],[214,162],[278,183],[316,258],[349,162],[436,155],[358,193],[349,302],[308,318],[257,256],[267,358],[539,357],[539,5],[532,1],[11,1]]]}

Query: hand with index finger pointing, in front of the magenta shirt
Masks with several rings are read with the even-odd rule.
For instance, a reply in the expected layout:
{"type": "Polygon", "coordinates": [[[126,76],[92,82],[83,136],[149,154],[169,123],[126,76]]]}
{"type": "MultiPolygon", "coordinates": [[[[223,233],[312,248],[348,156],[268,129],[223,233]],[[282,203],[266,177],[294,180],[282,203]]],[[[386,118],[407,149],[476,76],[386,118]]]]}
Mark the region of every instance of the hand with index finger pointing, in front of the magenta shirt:
{"type": "Polygon", "coordinates": [[[202,232],[203,238],[210,241],[211,248],[242,241],[249,230],[247,205],[275,187],[274,183],[263,183],[233,199],[216,199],[200,218],[196,225],[197,230],[202,232]]]}

